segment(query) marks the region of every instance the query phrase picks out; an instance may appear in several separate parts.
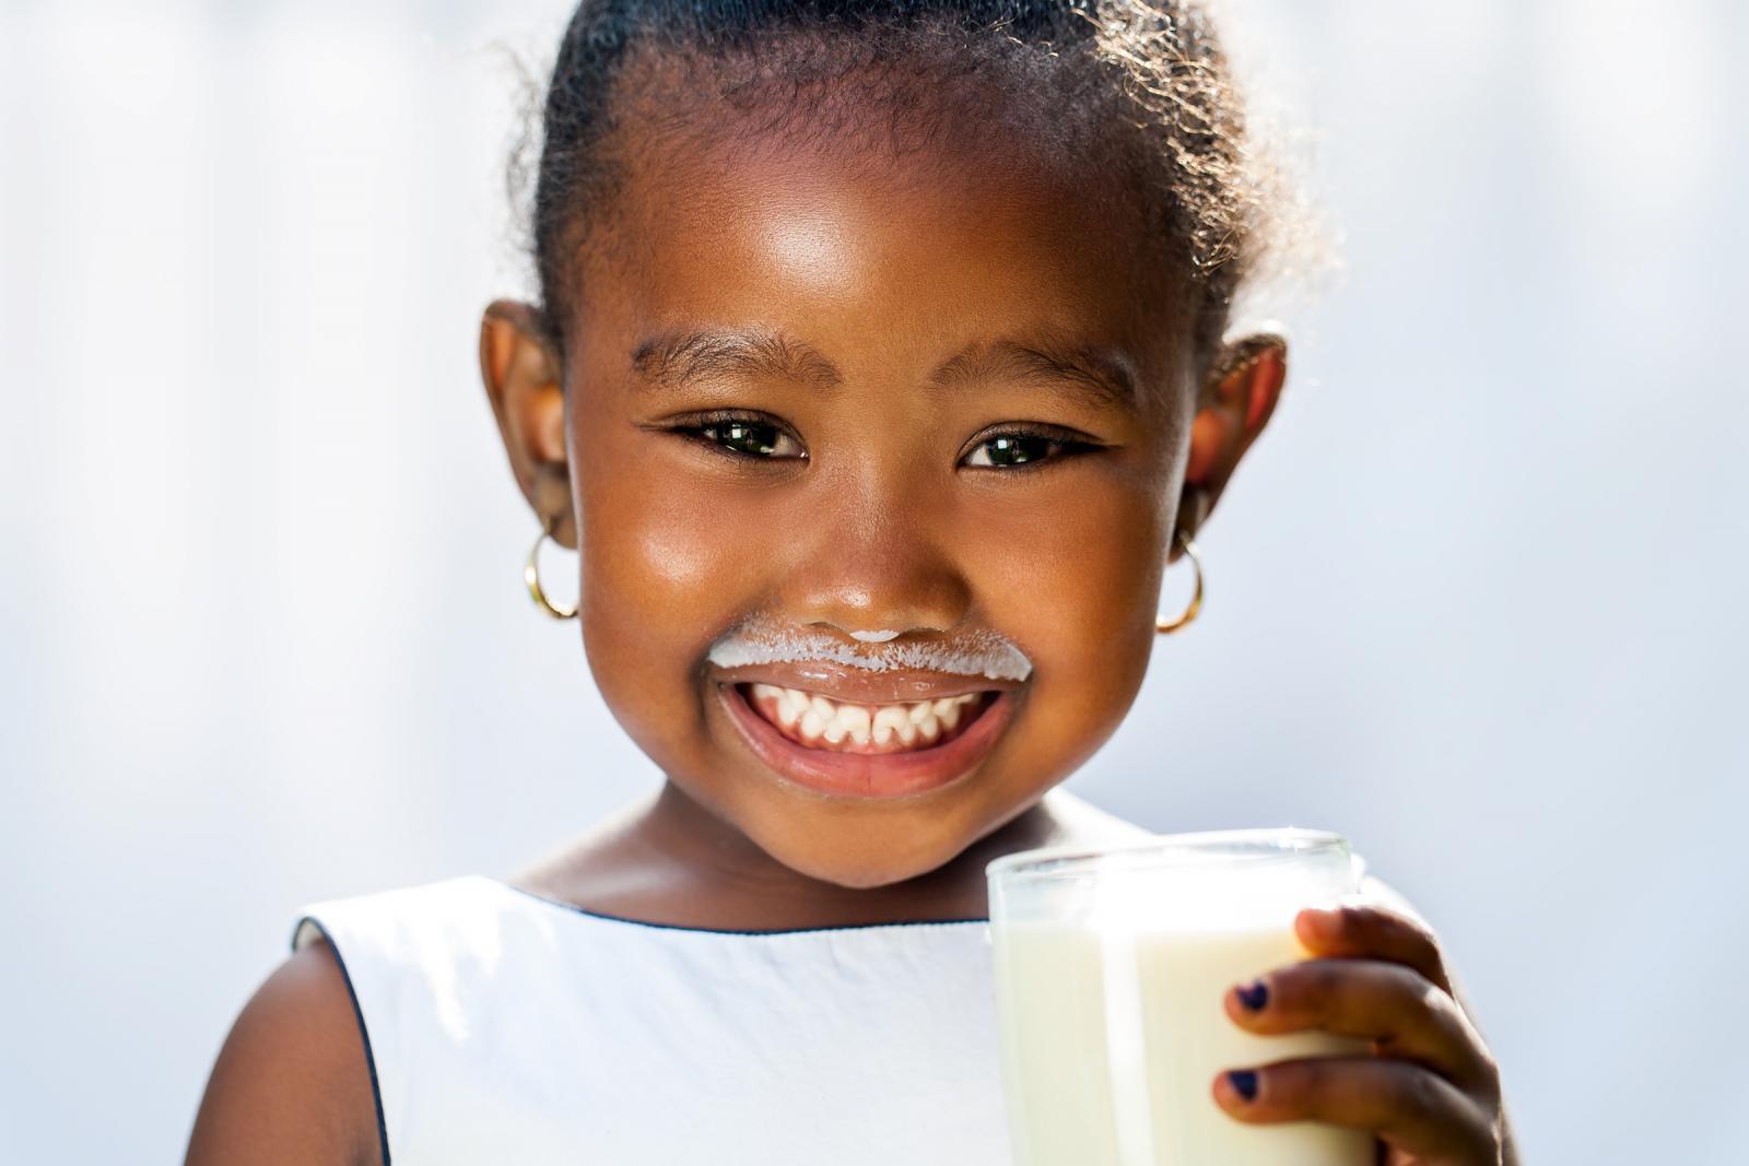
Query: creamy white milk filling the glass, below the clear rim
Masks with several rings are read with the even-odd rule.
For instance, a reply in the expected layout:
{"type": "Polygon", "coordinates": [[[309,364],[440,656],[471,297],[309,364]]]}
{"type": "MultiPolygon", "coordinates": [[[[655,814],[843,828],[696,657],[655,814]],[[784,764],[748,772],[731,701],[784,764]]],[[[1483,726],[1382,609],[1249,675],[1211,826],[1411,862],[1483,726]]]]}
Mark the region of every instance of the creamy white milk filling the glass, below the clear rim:
{"type": "Polygon", "coordinates": [[[1214,1079],[1298,1056],[1354,1054],[1324,1033],[1256,1037],[1223,996],[1307,953],[1289,927],[992,932],[1002,1077],[1018,1166],[1371,1166],[1362,1131],[1247,1126],[1214,1079]]]}

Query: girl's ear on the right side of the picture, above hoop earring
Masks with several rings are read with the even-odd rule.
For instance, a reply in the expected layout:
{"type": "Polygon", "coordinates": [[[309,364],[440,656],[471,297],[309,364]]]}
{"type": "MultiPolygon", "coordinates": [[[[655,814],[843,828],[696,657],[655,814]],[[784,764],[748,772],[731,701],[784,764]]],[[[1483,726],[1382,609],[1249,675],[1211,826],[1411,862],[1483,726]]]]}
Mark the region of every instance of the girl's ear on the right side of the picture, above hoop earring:
{"type": "Polygon", "coordinates": [[[1202,530],[1238,460],[1275,414],[1287,383],[1287,341],[1258,332],[1221,348],[1196,395],[1191,455],[1179,500],[1179,526],[1202,530]]]}

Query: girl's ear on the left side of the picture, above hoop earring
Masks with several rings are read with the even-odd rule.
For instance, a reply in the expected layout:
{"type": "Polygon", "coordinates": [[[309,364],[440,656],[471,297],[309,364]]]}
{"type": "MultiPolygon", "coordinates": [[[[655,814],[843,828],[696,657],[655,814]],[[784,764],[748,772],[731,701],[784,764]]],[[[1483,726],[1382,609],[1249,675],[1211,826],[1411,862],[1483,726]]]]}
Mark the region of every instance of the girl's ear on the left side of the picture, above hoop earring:
{"type": "Polygon", "coordinates": [[[535,519],[553,523],[554,542],[575,549],[570,460],[565,451],[565,388],[560,357],[530,304],[493,301],[479,322],[479,378],[486,385],[511,472],[535,519]]]}

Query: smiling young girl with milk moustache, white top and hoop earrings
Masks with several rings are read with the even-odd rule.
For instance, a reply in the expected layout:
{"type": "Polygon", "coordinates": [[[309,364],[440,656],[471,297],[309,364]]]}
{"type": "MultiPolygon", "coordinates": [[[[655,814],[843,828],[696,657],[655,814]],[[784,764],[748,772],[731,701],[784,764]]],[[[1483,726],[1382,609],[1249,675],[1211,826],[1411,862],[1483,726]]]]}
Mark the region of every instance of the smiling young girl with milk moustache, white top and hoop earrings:
{"type": "MultiPolygon", "coordinates": [[[[1224,339],[1245,161],[1189,3],[586,0],[540,302],[481,371],[535,547],[579,551],[575,610],[530,589],[666,780],[512,878],[311,906],[189,1161],[1011,1161],[985,865],[1146,836],[1053,787],[1282,392],[1279,337],[1224,339]]],[[[1432,935],[1298,927],[1228,1016],[1373,1052],[1207,1103],[1513,1161],[1432,935]]]]}

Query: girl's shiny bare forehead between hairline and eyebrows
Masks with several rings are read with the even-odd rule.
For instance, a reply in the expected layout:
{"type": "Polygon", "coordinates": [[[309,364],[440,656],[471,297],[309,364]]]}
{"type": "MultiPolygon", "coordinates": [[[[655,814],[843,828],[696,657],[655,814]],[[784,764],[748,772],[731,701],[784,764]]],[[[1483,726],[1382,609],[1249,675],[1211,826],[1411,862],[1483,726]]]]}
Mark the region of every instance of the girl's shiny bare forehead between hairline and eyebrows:
{"type": "Polygon", "coordinates": [[[972,119],[902,150],[745,124],[651,142],[614,210],[572,304],[616,358],[628,336],[717,325],[894,378],[1013,336],[1116,348],[1144,388],[1179,376],[1140,201],[1060,149],[978,142],[972,119]]]}

